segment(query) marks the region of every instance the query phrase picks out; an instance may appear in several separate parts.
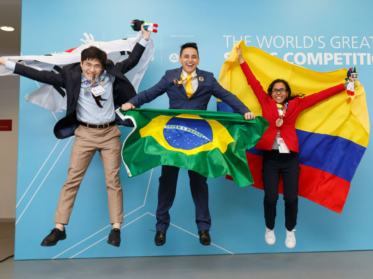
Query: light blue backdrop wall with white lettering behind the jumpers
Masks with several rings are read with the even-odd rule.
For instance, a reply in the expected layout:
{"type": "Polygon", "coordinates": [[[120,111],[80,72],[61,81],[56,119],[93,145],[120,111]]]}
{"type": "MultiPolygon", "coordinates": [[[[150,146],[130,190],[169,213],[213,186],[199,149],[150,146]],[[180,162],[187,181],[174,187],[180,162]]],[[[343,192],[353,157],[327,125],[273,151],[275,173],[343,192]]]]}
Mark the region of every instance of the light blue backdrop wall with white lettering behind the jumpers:
{"type": "MultiPolygon", "coordinates": [[[[174,61],[181,44],[197,42],[199,68],[218,77],[227,53],[235,42],[243,39],[248,46],[259,47],[311,70],[331,71],[354,65],[367,93],[368,108],[373,104],[370,94],[373,89],[371,1],[215,0],[179,4],[163,0],[151,6],[149,8],[141,1],[24,0],[21,52],[23,55],[43,55],[86,44],[88,39],[111,41],[135,36],[130,22],[147,19],[159,24],[159,32],[151,35],[155,45],[154,59],[139,91],[157,83],[164,71],[179,67],[174,61]],[[303,60],[308,53],[320,53],[323,59],[316,63],[303,60]]],[[[284,243],[282,196],[276,218],[278,240],[275,245],[268,246],[264,241],[264,192],[251,186],[239,188],[225,177],[207,181],[213,245],[202,246],[197,237],[186,170],[179,174],[175,202],[170,210],[172,225],[167,231],[167,243],[156,247],[151,230],[155,230],[160,167],[130,179],[122,167],[125,215],[122,243],[119,248],[110,246],[106,243],[111,227],[106,187],[98,154],[78,192],[70,223],[66,226],[68,237],[56,246],[41,247],[40,242],[54,227],[54,212],[66,179],[74,139],[57,140],[53,135],[53,126],[65,111],[52,113],[24,102],[24,96],[36,88],[35,81],[21,78],[17,260],[373,249],[372,238],[364,237],[373,230],[370,146],[351,182],[342,214],[300,198],[297,245],[292,250],[284,243]]],[[[166,109],[168,98],[164,94],[143,107],[166,109]]],[[[216,99],[211,99],[208,109],[216,110],[216,99]]],[[[131,129],[121,127],[120,131],[123,141],[131,129]]]]}

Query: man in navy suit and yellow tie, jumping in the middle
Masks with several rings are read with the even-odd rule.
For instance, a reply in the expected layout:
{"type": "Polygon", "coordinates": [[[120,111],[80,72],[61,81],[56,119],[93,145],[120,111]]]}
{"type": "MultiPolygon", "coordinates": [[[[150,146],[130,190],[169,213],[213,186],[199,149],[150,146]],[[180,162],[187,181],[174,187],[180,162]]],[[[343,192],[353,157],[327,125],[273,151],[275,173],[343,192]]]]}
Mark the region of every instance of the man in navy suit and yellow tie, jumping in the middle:
{"type": "MultiPolygon", "coordinates": [[[[170,99],[169,109],[206,110],[211,95],[213,95],[227,103],[236,112],[245,115],[246,120],[255,119],[254,113],[250,112],[235,95],[220,86],[213,73],[201,71],[197,68],[200,62],[197,44],[186,43],[182,45],[179,62],[182,65],[181,68],[166,71],[155,86],[138,93],[122,105],[122,110],[139,107],[165,92],[167,92],[167,96],[170,99]]],[[[154,238],[157,246],[162,246],[166,243],[166,231],[170,225],[169,209],[175,199],[178,174],[178,167],[162,166],[162,174],[159,177],[156,213],[157,232],[154,238]]],[[[200,243],[202,245],[210,245],[211,217],[207,178],[192,170],[188,170],[188,174],[195,205],[195,222],[197,223],[200,243]]]]}

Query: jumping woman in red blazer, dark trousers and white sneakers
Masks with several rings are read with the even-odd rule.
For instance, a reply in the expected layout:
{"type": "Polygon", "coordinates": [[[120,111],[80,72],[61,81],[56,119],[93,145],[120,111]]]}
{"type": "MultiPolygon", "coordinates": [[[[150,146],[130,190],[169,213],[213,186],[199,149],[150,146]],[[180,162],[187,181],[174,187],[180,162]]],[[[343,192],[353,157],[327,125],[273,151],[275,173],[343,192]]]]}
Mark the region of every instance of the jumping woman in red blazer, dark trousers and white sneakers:
{"type": "Polygon", "coordinates": [[[264,150],[261,171],[264,187],[264,219],[266,220],[264,237],[267,244],[275,244],[276,237],[273,229],[275,227],[276,203],[279,197],[279,178],[282,174],[283,199],[285,200],[285,245],[288,248],[294,248],[300,172],[295,121],[302,110],[345,91],[346,84],[339,84],[304,97],[304,94],[291,94],[289,84],[285,80],[277,79],[272,81],[265,92],[242,57],[241,47],[236,49],[238,61],[247,83],[259,101],[263,117],[269,122],[267,131],[255,147],[264,150]]]}

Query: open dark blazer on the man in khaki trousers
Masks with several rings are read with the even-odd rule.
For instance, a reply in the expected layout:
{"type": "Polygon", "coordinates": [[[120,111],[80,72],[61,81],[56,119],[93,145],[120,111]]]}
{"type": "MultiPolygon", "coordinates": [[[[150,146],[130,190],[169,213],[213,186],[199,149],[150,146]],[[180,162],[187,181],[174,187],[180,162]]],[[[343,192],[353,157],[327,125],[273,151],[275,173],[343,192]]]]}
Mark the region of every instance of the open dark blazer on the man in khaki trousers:
{"type": "MultiPolygon", "coordinates": [[[[115,82],[113,84],[113,100],[115,108],[118,108],[122,104],[126,103],[131,97],[136,96],[134,87],[123,74],[137,65],[144,50],[145,47],[137,43],[126,60],[118,62],[115,65],[113,61],[106,60],[104,70],[106,70],[107,73],[115,76],[115,82]]],[[[76,119],[75,109],[76,104],[78,103],[81,87],[82,69],[80,67],[80,63],[78,62],[66,65],[62,68],[61,73],[58,74],[54,73],[53,71],[38,71],[34,68],[17,63],[14,73],[40,81],[42,83],[47,83],[52,86],[59,86],[66,89],[66,116],[57,122],[53,131],[54,135],[60,139],[68,138],[74,135],[75,129],[79,126],[79,121],[76,119]]],[[[126,124],[128,123],[129,122],[126,124]]]]}

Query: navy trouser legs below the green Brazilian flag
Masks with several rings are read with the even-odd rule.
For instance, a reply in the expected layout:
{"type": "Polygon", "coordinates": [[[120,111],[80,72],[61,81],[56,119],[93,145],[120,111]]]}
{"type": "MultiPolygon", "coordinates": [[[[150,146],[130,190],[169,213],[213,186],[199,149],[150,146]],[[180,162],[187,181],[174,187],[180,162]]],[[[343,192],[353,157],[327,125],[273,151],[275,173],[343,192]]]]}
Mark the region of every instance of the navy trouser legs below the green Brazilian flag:
{"type": "MultiPolygon", "coordinates": [[[[209,211],[209,188],[207,177],[188,170],[189,185],[195,205],[195,222],[198,231],[210,230],[211,216],[209,211]]],[[[176,194],[179,168],[174,166],[162,166],[162,174],[159,177],[158,206],[156,212],[157,231],[167,231],[170,225],[169,209],[173,204],[176,194]]]]}

